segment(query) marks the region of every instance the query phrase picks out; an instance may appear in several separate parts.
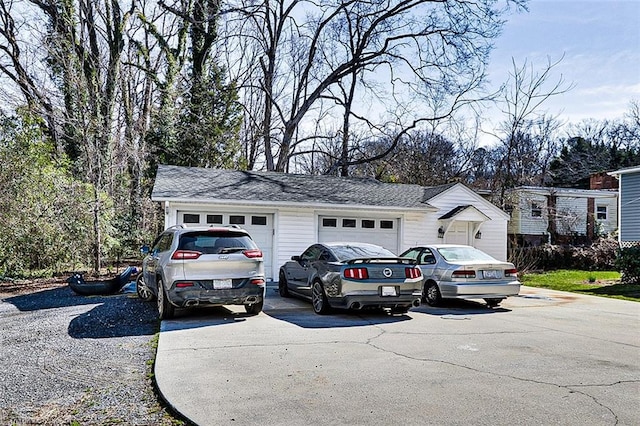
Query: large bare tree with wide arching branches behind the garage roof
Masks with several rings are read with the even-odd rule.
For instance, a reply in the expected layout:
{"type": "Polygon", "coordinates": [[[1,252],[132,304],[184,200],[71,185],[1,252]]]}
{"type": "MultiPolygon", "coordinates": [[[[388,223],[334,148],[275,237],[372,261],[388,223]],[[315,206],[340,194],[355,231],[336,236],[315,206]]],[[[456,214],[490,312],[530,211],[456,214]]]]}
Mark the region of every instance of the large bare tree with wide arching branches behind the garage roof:
{"type": "Polygon", "coordinates": [[[252,37],[257,46],[252,52],[261,77],[251,87],[264,92],[266,168],[286,170],[318,104],[335,103],[342,90],[342,174],[349,164],[363,161],[344,158],[349,151],[345,129],[351,128],[345,115],[366,117],[372,135],[396,135],[393,149],[421,122],[440,120],[472,101],[505,12],[493,1],[276,0],[232,6],[227,22],[242,27],[234,33],[252,37]],[[422,103],[436,97],[441,115],[423,115],[422,103]],[[357,113],[355,99],[378,102],[357,113]]]}

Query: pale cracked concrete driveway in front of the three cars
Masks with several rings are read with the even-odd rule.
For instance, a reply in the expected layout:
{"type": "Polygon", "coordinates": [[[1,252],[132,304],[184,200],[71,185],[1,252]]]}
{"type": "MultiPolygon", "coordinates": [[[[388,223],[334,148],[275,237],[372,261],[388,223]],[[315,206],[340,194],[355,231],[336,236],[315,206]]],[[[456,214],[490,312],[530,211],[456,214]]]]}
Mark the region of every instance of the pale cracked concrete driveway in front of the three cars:
{"type": "Polygon", "coordinates": [[[199,425],[640,424],[640,303],[523,287],[319,316],[269,288],[239,308],[162,323],[158,387],[199,425]]]}

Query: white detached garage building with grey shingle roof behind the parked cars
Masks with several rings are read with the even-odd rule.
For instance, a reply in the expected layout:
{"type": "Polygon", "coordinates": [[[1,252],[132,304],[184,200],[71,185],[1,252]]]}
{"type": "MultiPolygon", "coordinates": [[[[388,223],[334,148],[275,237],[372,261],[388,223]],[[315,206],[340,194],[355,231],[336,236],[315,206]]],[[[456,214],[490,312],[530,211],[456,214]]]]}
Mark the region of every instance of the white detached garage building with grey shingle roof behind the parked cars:
{"type": "Polygon", "coordinates": [[[397,254],[418,244],[464,243],[507,257],[509,215],[459,183],[160,165],[151,199],[163,203],[165,227],[235,224],[249,231],[268,279],[316,242],[368,242],[397,254]]]}

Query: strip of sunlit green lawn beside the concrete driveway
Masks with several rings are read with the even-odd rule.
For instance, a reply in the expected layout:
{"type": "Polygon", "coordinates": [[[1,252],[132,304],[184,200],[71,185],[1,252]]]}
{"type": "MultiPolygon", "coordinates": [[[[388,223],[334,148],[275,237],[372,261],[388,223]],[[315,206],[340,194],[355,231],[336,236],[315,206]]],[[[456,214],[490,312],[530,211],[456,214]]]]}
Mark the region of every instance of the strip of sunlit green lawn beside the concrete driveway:
{"type": "Polygon", "coordinates": [[[640,302],[640,285],[620,284],[616,271],[558,270],[520,276],[523,285],[640,302]]]}

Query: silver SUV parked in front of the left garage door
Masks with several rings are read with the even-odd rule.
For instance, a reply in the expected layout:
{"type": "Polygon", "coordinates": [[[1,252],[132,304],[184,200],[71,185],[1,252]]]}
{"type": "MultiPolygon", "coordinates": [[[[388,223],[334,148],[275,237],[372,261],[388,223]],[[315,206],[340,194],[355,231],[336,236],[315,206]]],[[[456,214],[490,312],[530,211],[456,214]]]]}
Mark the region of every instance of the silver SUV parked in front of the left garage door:
{"type": "Polygon", "coordinates": [[[262,251],[247,231],[230,227],[168,228],[145,255],[138,294],[157,299],[160,319],[175,308],[244,305],[262,311],[265,276],[262,251]]]}

